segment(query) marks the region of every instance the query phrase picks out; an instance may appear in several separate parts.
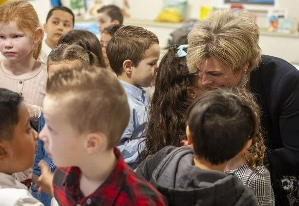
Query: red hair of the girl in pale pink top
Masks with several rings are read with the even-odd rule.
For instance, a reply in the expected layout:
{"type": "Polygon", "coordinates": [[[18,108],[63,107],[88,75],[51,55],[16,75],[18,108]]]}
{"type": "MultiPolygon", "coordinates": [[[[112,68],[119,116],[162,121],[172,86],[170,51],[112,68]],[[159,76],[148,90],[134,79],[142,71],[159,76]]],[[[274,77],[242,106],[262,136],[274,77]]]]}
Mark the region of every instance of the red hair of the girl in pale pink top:
{"type": "Polygon", "coordinates": [[[27,36],[38,38],[32,48],[33,57],[37,59],[41,52],[43,37],[37,37],[36,34],[41,25],[33,6],[25,0],[13,0],[0,6],[0,23],[10,22],[14,22],[27,36]]]}

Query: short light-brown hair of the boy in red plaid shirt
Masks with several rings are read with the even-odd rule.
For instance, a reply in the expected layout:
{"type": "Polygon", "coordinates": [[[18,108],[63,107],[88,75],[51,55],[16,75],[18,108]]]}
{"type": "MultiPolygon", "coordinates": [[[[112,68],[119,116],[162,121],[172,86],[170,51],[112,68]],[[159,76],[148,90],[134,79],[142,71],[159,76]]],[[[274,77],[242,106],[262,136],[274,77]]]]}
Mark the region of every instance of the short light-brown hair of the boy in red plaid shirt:
{"type": "Polygon", "coordinates": [[[106,68],[62,69],[48,81],[46,95],[64,101],[64,107],[69,108],[69,124],[78,135],[105,134],[108,149],[119,142],[128,125],[127,95],[113,72],[106,68]]]}

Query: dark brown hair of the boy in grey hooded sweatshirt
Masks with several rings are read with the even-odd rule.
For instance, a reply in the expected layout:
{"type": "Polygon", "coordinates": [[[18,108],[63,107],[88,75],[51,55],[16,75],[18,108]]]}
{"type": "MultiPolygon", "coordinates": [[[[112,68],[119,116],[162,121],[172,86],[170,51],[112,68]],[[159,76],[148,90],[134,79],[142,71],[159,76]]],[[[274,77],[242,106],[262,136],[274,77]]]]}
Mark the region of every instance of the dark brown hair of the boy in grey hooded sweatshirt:
{"type": "Polygon", "coordinates": [[[259,130],[257,113],[248,101],[224,89],[202,94],[186,119],[195,157],[214,165],[235,157],[259,130]]]}

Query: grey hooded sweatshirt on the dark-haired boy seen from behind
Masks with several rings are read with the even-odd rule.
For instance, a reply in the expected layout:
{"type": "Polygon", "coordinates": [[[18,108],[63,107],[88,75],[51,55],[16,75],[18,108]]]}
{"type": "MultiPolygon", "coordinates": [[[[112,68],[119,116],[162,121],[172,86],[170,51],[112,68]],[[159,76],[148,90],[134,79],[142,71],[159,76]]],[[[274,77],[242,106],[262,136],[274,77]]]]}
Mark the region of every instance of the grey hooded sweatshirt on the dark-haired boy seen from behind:
{"type": "Polygon", "coordinates": [[[146,158],[136,173],[153,184],[169,205],[257,205],[254,193],[237,176],[193,165],[189,147],[165,147],[146,158]]]}

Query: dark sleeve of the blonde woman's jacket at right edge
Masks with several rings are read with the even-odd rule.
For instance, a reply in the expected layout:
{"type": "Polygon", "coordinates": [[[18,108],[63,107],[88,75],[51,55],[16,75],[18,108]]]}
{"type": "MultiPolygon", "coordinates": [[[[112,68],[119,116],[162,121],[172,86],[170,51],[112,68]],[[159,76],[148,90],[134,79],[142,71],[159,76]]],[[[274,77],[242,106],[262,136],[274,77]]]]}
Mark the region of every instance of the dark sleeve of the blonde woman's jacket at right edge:
{"type": "Polygon", "coordinates": [[[268,159],[272,169],[279,157],[281,173],[299,174],[299,72],[290,70],[279,82],[279,129],[283,148],[270,150],[268,159]]]}

